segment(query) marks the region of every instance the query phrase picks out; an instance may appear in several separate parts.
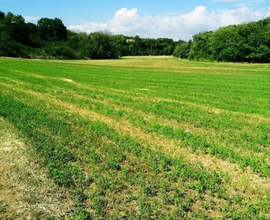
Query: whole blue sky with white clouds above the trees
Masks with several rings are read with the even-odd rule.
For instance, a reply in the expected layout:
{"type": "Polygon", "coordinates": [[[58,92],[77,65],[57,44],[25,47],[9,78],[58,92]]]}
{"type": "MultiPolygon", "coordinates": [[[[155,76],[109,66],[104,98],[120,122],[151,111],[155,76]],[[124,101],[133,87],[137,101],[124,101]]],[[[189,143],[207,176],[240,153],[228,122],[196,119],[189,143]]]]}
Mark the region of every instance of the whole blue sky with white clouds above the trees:
{"type": "Polygon", "coordinates": [[[194,34],[270,16],[270,0],[0,0],[26,22],[60,18],[73,31],[189,40],[194,34]]]}

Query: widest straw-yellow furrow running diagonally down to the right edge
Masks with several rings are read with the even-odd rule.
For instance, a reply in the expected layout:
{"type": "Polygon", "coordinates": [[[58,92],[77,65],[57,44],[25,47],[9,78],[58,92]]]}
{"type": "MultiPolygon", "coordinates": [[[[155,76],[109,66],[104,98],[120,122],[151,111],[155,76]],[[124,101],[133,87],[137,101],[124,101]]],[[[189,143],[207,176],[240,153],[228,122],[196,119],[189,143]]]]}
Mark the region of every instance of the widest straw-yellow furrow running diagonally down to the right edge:
{"type": "MultiPolygon", "coordinates": [[[[51,104],[61,106],[73,113],[76,112],[83,117],[92,120],[102,121],[106,123],[109,127],[115,129],[120,134],[123,135],[128,134],[131,137],[138,138],[143,144],[151,147],[153,150],[155,150],[157,146],[160,146],[159,149],[166,155],[170,155],[172,157],[179,157],[180,155],[182,155],[185,158],[188,158],[191,162],[201,163],[207,169],[225,172],[230,177],[231,182],[227,187],[228,190],[232,191],[232,193],[236,193],[236,191],[238,190],[246,193],[247,190],[251,191],[255,190],[263,194],[266,189],[270,188],[269,178],[260,177],[257,174],[254,174],[249,168],[246,168],[246,170],[243,171],[237,164],[232,164],[228,161],[214,158],[208,154],[197,155],[190,153],[187,149],[180,148],[178,141],[168,139],[162,135],[144,133],[139,128],[132,126],[128,121],[124,119],[116,121],[105,115],[101,115],[96,112],[80,108],[76,105],[66,103],[61,100],[57,100],[53,97],[48,96],[46,97],[38,92],[29,90],[24,92],[32,94],[33,96],[38,97],[40,99],[49,101],[51,104]]],[[[248,195],[251,196],[252,198],[256,196],[255,194],[253,195],[252,193],[250,194],[248,193],[248,195]]]]}

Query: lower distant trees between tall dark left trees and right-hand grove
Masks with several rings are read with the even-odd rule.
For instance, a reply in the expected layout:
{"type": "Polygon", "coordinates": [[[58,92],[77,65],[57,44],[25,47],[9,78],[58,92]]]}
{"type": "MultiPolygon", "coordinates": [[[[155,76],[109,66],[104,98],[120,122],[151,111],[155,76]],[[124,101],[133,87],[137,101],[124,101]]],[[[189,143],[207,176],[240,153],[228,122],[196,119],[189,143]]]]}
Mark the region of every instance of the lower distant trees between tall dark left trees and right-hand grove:
{"type": "Polygon", "coordinates": [[[109,59],[121,56],[172,55],[178,42],[168,38],[112,35],[110,32],[75,33],[68,31],[67,45],[78,57],[109,59]]]}

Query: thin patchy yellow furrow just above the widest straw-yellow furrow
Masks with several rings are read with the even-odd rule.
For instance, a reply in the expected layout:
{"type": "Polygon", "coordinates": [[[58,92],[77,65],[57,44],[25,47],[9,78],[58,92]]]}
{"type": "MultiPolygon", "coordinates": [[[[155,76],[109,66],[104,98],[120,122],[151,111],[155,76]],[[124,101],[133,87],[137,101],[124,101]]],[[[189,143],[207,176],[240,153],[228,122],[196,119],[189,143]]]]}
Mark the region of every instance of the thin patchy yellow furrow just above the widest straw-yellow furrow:
{"type": "MultiPolygon", "coordinates": [[[[151,124],[154,124],[155,122],[158,122],[160,125],[162,126],[170,126],[172,127],[174,130],[177,129],[184,129],[186,132],[190,132],[192,134],[197,134],[199,136],[204,136],[206,138],[207,141],[211,141],[210,139],[214,137],[215,143],[218,145],[223,145],[223,146],[227,146],[231,149],[234,149],[235,152],[237,152],[239,155],[242,156],[247,156],[249,157],[249,155],[251,154],[251,149],[248,147],[246,140],[242,140],[241,138],[241,132],[245,131],[247,134],[249,135],[253,135],[253,132],[251,133],[251,130],[249,129],[249,127],[243,127],[242,130],[240,131],[239,129],[236,128],[232,128],[232,129],[222,129],[222,130],[215,130],[213,128],[206,128],[206,127],[195,127],[193,124],[188,123],[187,121],[185,122],[178,122],[174,119],[168,119],[166,117],[161,117],[161,116],[157,116],[155,115],[155,113],[151,113],[151,114],[146,114],[145,112],[142,112],[138,109],[133,109],[130,106],[126,107],[126,106],[122,106],[122,105],[117,105],[114,104],[113,101],[108,100],[108,99],[98,99],[96,98],[91,98],[91,97],[87,97],[85,95],[80,95],[74,91],[71,90],[65,90],[59,87],[56,87],[57,90],[61,90],[62,92],[64,92],[64,96],[68,96],[68,97],[74,97],[74,100],[87,100],[87,102],[89,103],[89,105],[91,105],[91,103],[100,103],[102,104],[104,107],[109,107],[111,109],[114,109],[115,111],[124,111],[125,114],[123,115],[123,117],[126,120],[131,120],[130,117],[138,117],[138,118],[143,118],[144,122],[147,123],[147,125],[144,125],[143,127],[140,126],[139,124],[134,124],[134,126],[136,127],[140,127],[141,129],[143,129],[145,132],[151,132],[154,133],[154,131],[150,131],[149,129],[151,129],[149,126],[151,124]],[[234,142],[236,143],[230,143],[227,144],[224,142],[224,136],[228,136],[231,138],[234,138],[234,142]],[[236,138],[238,138],[238,140],[236,140],[236,138]],[[237,145],[237,146],[236,146],[237,145]]],[[[63,97],[59,97],[59,99],[63,99],[63,97]]],[[[268,150],[267,148],[260,148],[259,152],[254,152],[252,151],[252,154],[254,156],[258,155],[259,157],[263,157],[264,160],[269,160],[268,158],[268,150]]]]}

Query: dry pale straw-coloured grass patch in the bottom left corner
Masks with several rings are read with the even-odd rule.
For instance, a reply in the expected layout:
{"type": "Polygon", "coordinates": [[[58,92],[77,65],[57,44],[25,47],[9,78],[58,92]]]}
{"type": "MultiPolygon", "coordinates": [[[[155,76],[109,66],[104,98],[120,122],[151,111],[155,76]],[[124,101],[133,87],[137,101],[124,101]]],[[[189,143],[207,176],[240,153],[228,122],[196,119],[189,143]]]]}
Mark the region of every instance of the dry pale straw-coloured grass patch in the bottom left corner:
{"type": "Polygon", "coordinates": [[[72,196],[46,177],[16,132],[0,118],[0,219],[69,216],[75,210],[72,196]]]}

